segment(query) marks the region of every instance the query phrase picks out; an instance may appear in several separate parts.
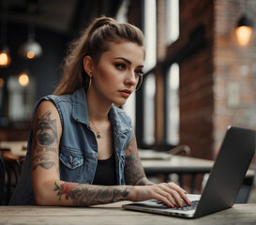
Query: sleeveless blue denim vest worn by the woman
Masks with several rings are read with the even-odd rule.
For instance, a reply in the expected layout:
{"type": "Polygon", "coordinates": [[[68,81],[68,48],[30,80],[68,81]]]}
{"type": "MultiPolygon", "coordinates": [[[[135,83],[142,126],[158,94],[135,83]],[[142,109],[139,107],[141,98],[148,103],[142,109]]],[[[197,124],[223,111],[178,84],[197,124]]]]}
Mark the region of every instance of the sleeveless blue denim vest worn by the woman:
{"type": "MultiPolygon", "coordinates": [[[[39,103],[43,100],[53,101],[62,124],[62,137],[59,144],[60,180],[92,184],[98,163],[98,143],[95,133],[90,128],[84,89],[77,90],[72,95],[52,95],[41,98],[36,104],[33,118],[39,103]]],[[[126,149],[133,135],[131,121],[125,112],[114,106],[111,107],[109,118],[113,128],[117,185],[125,185],[126,149]]],[[[23,172],[9,204],[37,204],[30,172],[32,137],[33,129],[31,129],[28,140],[23,172]]]]}

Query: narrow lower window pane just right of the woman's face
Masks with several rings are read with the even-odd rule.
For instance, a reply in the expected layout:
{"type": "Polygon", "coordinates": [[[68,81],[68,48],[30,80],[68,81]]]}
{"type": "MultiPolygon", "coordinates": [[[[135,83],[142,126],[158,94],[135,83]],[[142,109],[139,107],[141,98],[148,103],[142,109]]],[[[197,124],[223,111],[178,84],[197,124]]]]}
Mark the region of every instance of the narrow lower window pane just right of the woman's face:
{"type": "Polygon", "coordinates": [[[150,145],[155,143],[155,74],[148,74],[143,85],[143,143],[150,145]]]}

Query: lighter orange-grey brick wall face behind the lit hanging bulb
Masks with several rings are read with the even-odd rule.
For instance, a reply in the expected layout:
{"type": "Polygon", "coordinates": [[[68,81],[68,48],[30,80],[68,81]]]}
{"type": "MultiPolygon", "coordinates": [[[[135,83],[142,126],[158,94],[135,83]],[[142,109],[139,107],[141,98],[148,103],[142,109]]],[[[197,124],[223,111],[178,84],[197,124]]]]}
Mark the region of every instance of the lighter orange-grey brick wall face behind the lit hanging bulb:
{"type": "MultiPolygon", "coordinates": [[[[215,1],[214,152],[228,125],[256,129],[255,38],[247,47],[236,41],[234,27],[244,11],[254,19],[256,1],[215,1]]],[[[255,28],[254,28],[255,29],[255,28]]]]}

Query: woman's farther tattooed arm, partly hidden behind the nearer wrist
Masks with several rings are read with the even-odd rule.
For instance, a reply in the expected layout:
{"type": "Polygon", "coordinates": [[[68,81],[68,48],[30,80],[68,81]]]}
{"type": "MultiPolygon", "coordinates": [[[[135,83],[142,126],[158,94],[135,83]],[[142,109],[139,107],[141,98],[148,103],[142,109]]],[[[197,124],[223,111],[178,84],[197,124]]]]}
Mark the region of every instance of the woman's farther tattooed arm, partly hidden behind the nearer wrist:
{"type": "Polygon", "coordinates": [[[125,179],[126,184],[132,186],[153,184],[145,176],[134,134],[126,150],[125,179]]]}

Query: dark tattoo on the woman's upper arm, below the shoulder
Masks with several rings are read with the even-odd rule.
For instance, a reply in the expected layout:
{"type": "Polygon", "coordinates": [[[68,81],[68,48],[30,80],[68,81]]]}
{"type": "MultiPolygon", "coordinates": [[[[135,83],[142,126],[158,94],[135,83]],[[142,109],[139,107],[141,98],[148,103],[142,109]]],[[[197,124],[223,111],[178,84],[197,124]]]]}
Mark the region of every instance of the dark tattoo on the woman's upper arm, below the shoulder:
{"type": "Polygon", "coordinates": [[[38,120],[35,122],[37,124],[34,128],[32,170],[35,171],[38,167],[45,170],[55,167],[58,173],[55,163],[57,149],[54,145],[58,140],[56,119],[51,119],[50,111],[41,116],[38,112],[38,120]]]}

